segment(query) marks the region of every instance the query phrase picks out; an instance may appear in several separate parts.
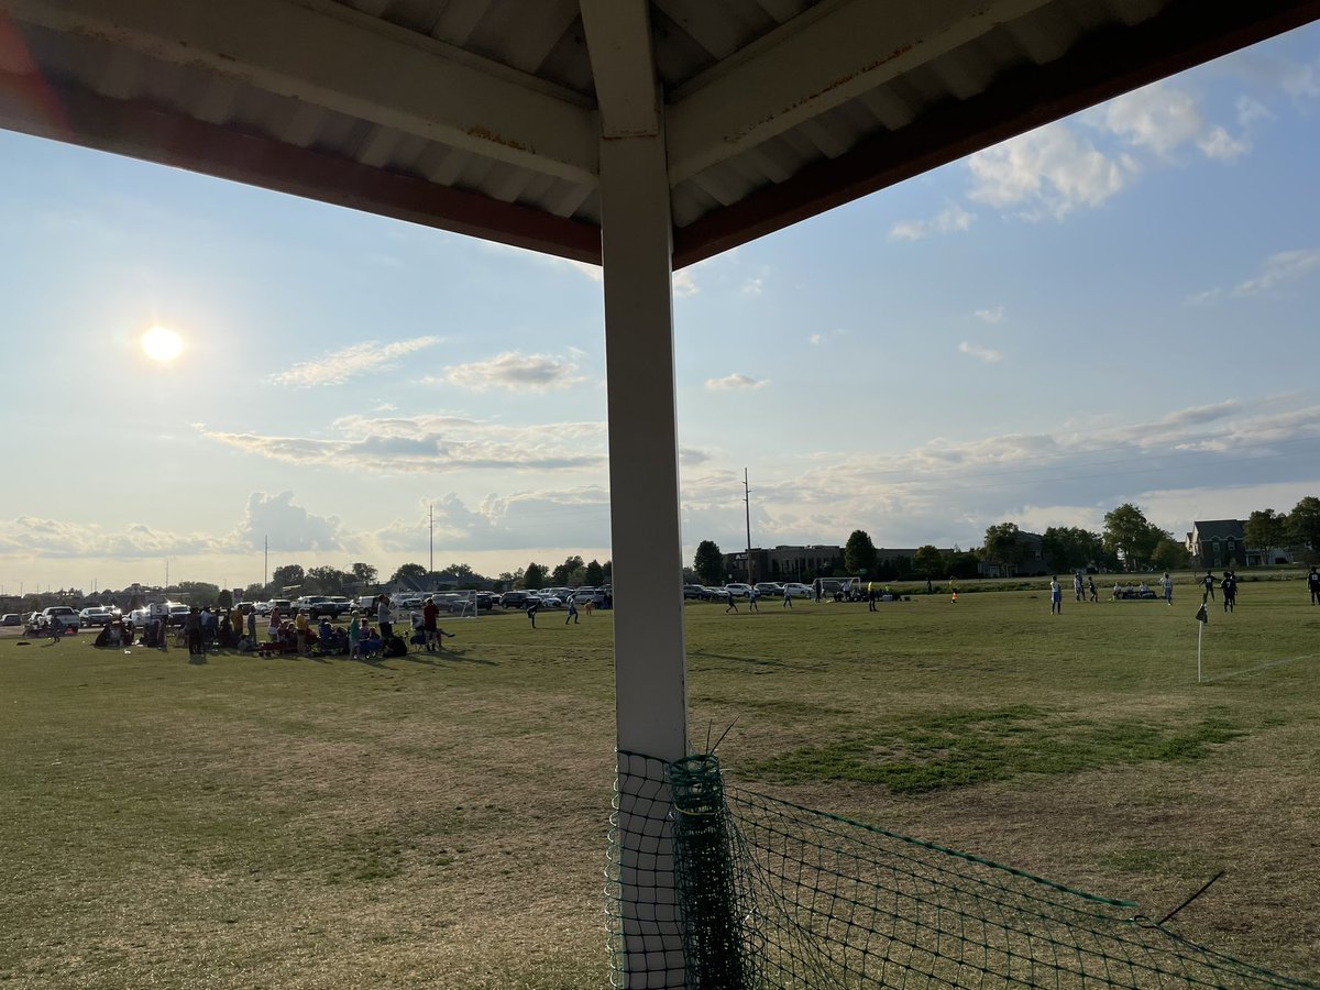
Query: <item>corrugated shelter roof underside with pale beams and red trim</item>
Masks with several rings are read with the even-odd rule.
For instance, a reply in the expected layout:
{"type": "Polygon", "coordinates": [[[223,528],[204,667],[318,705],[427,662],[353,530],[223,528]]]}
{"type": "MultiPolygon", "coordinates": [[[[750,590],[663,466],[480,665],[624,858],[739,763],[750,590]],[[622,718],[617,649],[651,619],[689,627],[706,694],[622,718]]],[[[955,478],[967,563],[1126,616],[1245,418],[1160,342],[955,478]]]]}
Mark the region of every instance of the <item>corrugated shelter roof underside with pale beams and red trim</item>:
{"type": "Polygon", "coordinates": [[[665,141],[675,265],[1320,18],[1320,0],[0,0],[0,127],[599,261],[665,141]]]}

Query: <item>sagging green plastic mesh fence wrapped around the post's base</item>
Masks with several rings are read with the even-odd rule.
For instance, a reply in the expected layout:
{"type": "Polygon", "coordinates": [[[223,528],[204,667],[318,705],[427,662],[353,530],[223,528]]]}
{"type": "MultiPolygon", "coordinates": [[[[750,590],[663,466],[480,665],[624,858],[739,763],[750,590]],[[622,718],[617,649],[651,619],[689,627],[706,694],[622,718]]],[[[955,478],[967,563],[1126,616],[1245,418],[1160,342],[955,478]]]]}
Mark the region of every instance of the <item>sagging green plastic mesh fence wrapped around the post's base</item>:
{"type": "Polygon", "coordinates": [[[620,752],[612,824],[616,987],[1309,986],[1135,903],[730,787],[714,755],[620,752]]]}

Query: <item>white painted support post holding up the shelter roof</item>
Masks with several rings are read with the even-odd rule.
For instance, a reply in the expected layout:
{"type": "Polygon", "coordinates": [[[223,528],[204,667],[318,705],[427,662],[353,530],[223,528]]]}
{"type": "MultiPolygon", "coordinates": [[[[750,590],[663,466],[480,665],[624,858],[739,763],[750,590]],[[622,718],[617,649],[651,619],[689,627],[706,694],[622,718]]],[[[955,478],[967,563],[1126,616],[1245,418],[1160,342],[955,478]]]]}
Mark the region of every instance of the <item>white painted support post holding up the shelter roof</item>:
{"type": "MultiPolygon", "coordinates": [[[[620,751],[688,755],[682,539],[664,140],[601,145],[605,341],[620,751]]],[[[669,792],[622,772],[618,836],[628,987],[685,985],[669,792]]],[[[652,764],[653,766],[653,764],[652,764]]]]}

